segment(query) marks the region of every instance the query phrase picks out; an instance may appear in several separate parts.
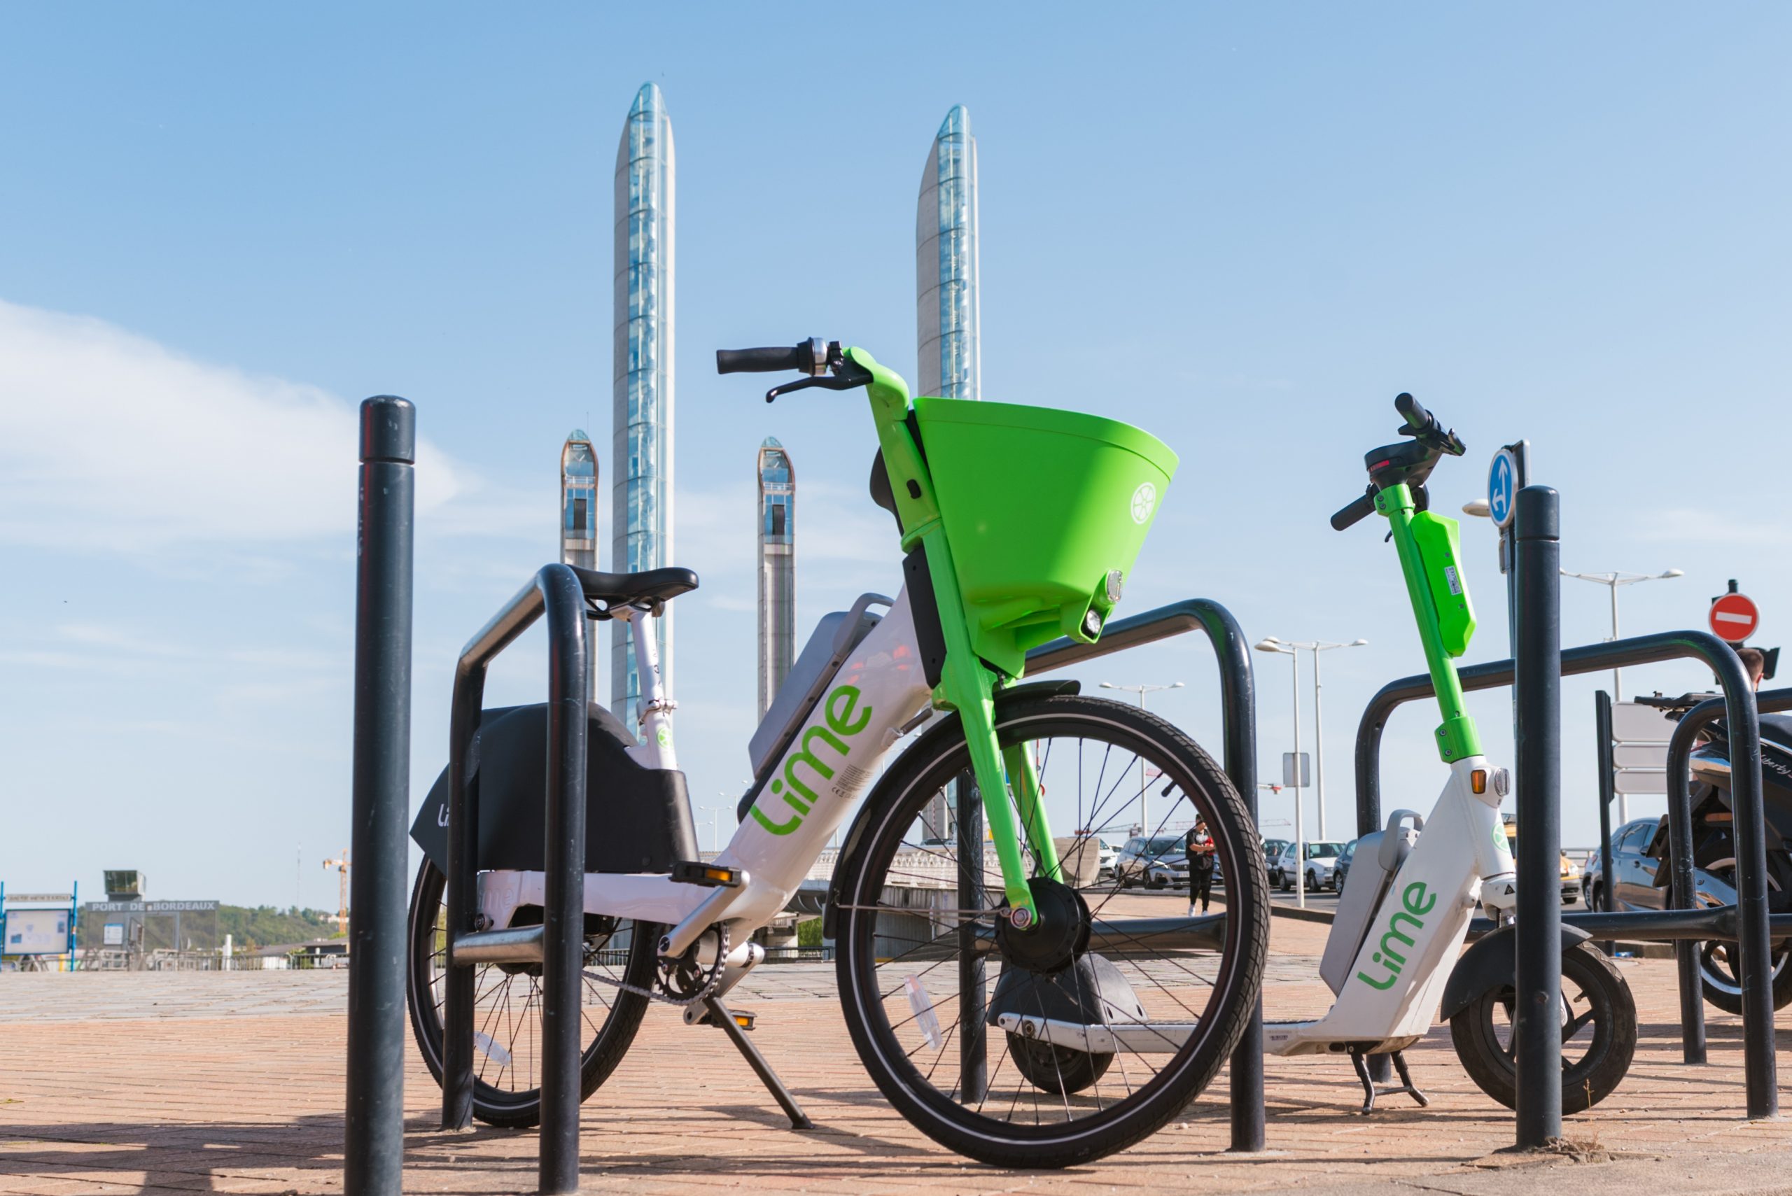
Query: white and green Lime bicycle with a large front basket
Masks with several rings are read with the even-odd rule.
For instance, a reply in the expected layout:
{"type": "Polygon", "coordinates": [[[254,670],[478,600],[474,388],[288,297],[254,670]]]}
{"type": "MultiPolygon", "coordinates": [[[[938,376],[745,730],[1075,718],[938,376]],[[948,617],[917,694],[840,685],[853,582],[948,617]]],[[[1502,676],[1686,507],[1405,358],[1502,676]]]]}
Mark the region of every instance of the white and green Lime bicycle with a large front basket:
{"type": "MultiPolygon", "coordinates": [[[[1226,773],[1176,727],[1081,696],[1073,682],[1014,682],[1029,648],[1100,636],[1176,455],[1095,415],[910,401],[871,355],[823,340],[722,351],[717,369],[806,374],[767,401],[806,387],[867,390],[880,446],[871,491],[896,516],[905,585],[823,621],[753,739],[738,831],[697,865],[643,630],[695,575],[579,573],[595,618],[629,621],[645,682],[640,743],[609,713],[591,718],[606,770],[593,765],[590,781],[586,1094],[620,1062],[650,1001],[683,1006],[688,1024],[720,1008],[711,999],[765,958],[753,933],[801,908],[805,881],[824,879],[848,1031],[918,1128],[973,1158],[1029,1167],[1140,1140],[1208,1085],[1251,1015],[1269,938],[1262,847],[1226,773]],[[663,818],[631,820],[624,804],[663,818]],[[1102,831],[1197,818],[1224,868],[1224,913],[1174,917],[1181,902],[1100,876],[1102,831]],[[656,838],[654,827],[670,831],[656,838]],[[683,858],[668,859],[665,843],[681,843],[683,858]],[[1041,1040],[1016,1017],[1073,1019],[1082,1035],[1041,1040]]],[[[541,915],[539,863],[505,854],[518,836],[502,831],[487,850],[484,825],[487,811],[504,827],[539,806],[539,781],[507,786],[498,765],[539,759],[532,709],[487,711],[480,725],[486,929],[541,915]]],[[[430,859],[412,897],[410,1006],[437,1078],[446,938],[432,811],[444,786],[412,831],[430,859]]],[[[539,967],[495,961],[475,983],[475,1115],[532,1124],[539,967]]]]}

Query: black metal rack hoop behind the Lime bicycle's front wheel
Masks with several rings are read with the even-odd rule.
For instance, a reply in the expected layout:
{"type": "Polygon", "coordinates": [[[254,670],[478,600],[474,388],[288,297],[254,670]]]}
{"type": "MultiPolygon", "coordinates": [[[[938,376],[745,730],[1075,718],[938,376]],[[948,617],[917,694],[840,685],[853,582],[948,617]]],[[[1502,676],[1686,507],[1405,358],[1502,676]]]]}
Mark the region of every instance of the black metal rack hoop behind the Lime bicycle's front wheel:
{"type": "MultiPolygon", "coordinates": [[[[1066,668],[1192,630],[1206,632],[1208,643],[1213,645],[1213,655],[1219,659],[1222,765],[1244,797],[1251,820],[1256,822],[1256,695],[1251,682],[1251,652],[1238,619],[1220,603],[1210,598],[1186,598],[1116,619],[1102,630],[1102,637],[1093,645],[1054,639],[1027,654],[1027,671],[1043,673],[1066,668]]],[[[980,838],[982,831],[978,829],[980,838]]],[[[980,970],[977,974],[980,976],[980,970]]],[[[980,1003],[973,1006],[977,992],[968,987],[973,979],[966,978],[961,969],[959,997],[966,1010],[980,1008],[980,1003]]],[[[966,1078],[977,1074],[973,1072],[977,1060],[968,1062],[968,1055],[961,1055],[961,1069],[966,1078]]],[[[1258,999],[1231,1056],[1231,1149],[1263,1149],[1263,1001],[1258,999]]]]}

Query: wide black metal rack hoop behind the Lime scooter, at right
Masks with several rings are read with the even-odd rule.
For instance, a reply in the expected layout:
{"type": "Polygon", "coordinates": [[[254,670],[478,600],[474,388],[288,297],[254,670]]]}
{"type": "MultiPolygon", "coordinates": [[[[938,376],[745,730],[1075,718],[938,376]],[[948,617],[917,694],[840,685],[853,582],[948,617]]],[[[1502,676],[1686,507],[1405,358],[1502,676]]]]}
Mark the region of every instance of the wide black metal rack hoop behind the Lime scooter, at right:
{"type": "MultiPolygon", "coordinates": [[[[1527,487],[1532,489],[1532,487],[1527,487]]],[[[1538,487],[1543,489],[1543,487],[1538,487]]],[[[1521,584],[1521,580],[1520,580],[1521,584]]],[[[1548,605],[1545,596],[1545,605],[1548,605]]],[[[1546,618],[1555,619],[1557,611],[1546,618]]],[[[1518,609],[1518,623],[1523,625],[1527,609],[1518,609]]],[[[1713,698],[1713,711],[1722,711],[1731,730],[1731,779],[1736,816],[1736,892],[1735,910],[1663,910],[1634,913],[1557,913],[1563,924],[1584,929],[1597,938],[1634,938],[1634,940],[1701,940],[1731,938],[1738,940],[1740,972],[1744,983],[1744,1058],[1747,1080],[1747,1115],[1751,1119],[1772,1117],[1778,1112],[1779,1098],[1776,1090],[1774,1026],[1772,1026],[1772,958],[1769,951],[1769,926],[1774,922],[1767,911],[1767,854],[1762,824],[1762,741],[1756,718],[1754,695],[1751,693],[1742,661],[1717,636],[1710,632],[1656,632],[1652,636],[1634,636],[1579,648],[1561,650],[1561,677],[1579,673],[1597,673],[1609,668],[1629,668],[1633,664],[1654,664],[1661,661],[1697,659],[1717,673],[1722,698],[1713,698]]],[[[1459,670],[1464,691],[1496,689],[1511,686],[1514,680],[1512,661],[1489,661],[1459,670]]],[[[1428,675],[1403,677],[1392,680],[1369,700],[1357,727],[1357,833],[1369,834],[1382,829],[1382,732],[1389,716],[1409,702],[1430,698],[1434,693],[1428,675]]],[[[1792,691],[1788,691],[1792,693],[1792,691]]],[[[1792,709],[1788,704],[1787,709],[1792,709]]],[[[1516,709],[1518,738],[1527,734],[1527,713],[1523,705],[1516,709]]],[[[1713,714],[1715,716],[1715,714],[1713,714]]],[[[1690,714],[1688,714],[1690,718],[1690,714]]],[[[1681,729],[1688,718],[1681,720],[1681,729]]],[[[1532,723],[1532,738],[1545,734],[1532,723]]],[[[1559,734],[1559,722],[1554,734],[1559,734]]],[[[1693,730],[1688,730],[1688,747],[1693,730]]],[[[1559,748],[1557,748],[1559,750],[1559,748]]],[[[1684,806],[1684,757],[1679,765],[1681,795],[1674,797],[1676,765],[1670,747],[1668,757],[1668,809],[1681,802],[1686,815],[1684,825],[1676,831],[1670,820],[1674,867],[1686,868],[1692,876],[1690,845],[1690,807],[1684,806]],[[1681,859],[1684,856],[1684,859],[1681,859]]],[[[1523,795],[1523,790],[1520,790],[1523,795]]],[[[1523,800],[1523,797],[1520,797],[1523,800]]],[[[1523,841],[1523,840],[1521,840],[1523,841]]],[[[1521,849],[1523,850],[1523,849],[1521,849]]],[[[1523,870],[1520,870],[1523,876],[1523,870]]],[[[1523,883],[1523,879],[1520,879],[1523,883]]],[[[1559,884],[1554,863],[1550,865],[1550,883],[1559,884]]],[[[1690,888],[1688,888],[1690,892],[1690,888]]],[[[1679,901],[1676,901],[1679,904],[1679,901]]],[[[1785,918],[1787,931],[1792,933],[1792,917],[1785,918]]],[[[1486,926],[1486,924],[1482,924],[1486,926]]],[[[1697,978],[1692,978],[1692,999],[1699,997],[1697,978]]],[[[1686,1031],[1686,976],[1681,976],[1683,1033],[1686,1031]]],[[[1702,1010],[1697,1012],[1702,1019],[1702,1010]]],[[[1702,1037],[1702,1029],[1699,1031],[1702,1037]]],[[[1523,1090],[1523,1085],[1520,1087],[1523,1090]]]]}

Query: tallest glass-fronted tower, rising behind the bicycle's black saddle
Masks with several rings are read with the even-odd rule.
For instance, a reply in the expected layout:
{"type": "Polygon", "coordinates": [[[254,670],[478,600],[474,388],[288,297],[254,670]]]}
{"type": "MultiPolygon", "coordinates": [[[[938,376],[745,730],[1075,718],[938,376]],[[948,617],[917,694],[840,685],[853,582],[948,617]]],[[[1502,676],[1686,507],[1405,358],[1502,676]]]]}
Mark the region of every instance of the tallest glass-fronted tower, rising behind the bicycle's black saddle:
{"type": "MultiPolygon", "coordinates": [[[[672,564],[672,122],[642,84],[616,147],[615,548],[611,569],[672,564]]],[[[642,684],[627,627],[609,634],[611,711],[633,725],[642,684]]],[[[659,675],[672,693],[672,609],[654,619],[659,675]]]]}

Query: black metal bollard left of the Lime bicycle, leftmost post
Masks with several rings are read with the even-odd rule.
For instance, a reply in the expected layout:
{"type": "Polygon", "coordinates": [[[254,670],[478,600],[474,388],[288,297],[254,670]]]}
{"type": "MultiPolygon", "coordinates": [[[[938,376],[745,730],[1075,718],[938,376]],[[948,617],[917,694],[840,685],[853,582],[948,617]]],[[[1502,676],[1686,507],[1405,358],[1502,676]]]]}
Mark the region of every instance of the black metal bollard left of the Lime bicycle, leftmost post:
{"type": "Polygon", "coordinates": [[[355,747],[349,772],[348,1196],[398,1196],[405,1160],[405,841],[418,412],[360,405],[355,747]]]}

